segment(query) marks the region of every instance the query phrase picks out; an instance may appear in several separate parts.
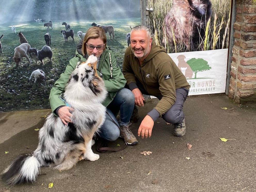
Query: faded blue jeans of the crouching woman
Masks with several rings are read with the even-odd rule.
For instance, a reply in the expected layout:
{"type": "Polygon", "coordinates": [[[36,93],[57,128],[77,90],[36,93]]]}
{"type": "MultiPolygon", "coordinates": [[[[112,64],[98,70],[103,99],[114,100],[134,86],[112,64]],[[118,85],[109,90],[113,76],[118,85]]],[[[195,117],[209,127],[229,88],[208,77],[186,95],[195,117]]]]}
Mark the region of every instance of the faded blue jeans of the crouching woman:
{"type": "Polygon", "coordinates": [[[119,90],[113,101],[107,106],[106,119],[97,136],[107,141],[115,141],[120,135],[116,115],[120,110],[120,126],[128,125],[132,116],[134,102],[134,95],[129,89],[123,88],[119,90]]]}

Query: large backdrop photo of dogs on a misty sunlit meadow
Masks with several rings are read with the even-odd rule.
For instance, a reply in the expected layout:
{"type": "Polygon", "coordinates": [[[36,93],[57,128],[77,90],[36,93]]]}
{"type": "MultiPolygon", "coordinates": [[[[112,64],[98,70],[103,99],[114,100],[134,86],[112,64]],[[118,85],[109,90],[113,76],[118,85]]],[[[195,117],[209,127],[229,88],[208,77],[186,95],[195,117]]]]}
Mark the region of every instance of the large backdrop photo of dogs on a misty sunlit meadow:
{"type": "Polygon", "coordinates": [[[0,35],[2,53],[0,56],[0,112],[14,110],[49,109],[49,94],[54,82],[65,70],[69,60],[75,56],[80,38],[78,32],[85,33],[92,23],[113,26],[114,39],[109,37],[107,45],[114,52],[122,69],[124,52],[127,48],[126,34],[131,27],[141,24],[140,1],[138,0],[4,0],[0,9],[0,35]],[[52,27],[45,23],[49,20],[52,27]],[[66,22],[74,32],[74,40],[65,41],[61,30],[66,22]],[[12,30],[15,27],[15,31],[12,30]],[[29,63],[23,57],[19,64],[14,62],[14,49],[20,45],[21,32],[31,47],[41,50],[46,45],[44,35],[51,35],[52,62],[45,58],[29,63]],[[45,82],[34,82],[29,78],[33,71],[40,69],[46,75],[45,82]]]}

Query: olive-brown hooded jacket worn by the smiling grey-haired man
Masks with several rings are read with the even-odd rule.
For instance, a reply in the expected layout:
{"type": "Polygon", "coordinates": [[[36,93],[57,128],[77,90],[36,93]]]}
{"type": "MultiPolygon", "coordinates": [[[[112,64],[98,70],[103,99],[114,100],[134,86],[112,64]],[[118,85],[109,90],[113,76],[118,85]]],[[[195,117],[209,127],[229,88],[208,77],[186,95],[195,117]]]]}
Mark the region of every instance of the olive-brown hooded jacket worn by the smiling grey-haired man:
{"type": "Polygon", "coordinates": [[[163,96],[154,108],[160,117],[175,103],[175,90],[181,87],[189,90],[190,87],[186,77],[166,54],[165,48],[155,43],[152,43],[150,53],[141,66],[129,46],[124,55],[123,73],[130,90],[138,88],[137,78],[149,95],[163,96]]]}

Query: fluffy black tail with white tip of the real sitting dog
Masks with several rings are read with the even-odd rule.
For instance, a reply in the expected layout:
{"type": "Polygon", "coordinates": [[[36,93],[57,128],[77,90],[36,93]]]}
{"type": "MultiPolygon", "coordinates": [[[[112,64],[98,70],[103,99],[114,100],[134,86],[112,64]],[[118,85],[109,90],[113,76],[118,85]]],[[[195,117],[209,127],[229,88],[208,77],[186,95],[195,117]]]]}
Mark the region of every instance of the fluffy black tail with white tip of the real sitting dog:
{"type": "Polygon", "coordinates": [[[40,167],[40,162],[33,155],[21,155],[4,171],[2,180],[9,185],[33,182],[40,167]]]}

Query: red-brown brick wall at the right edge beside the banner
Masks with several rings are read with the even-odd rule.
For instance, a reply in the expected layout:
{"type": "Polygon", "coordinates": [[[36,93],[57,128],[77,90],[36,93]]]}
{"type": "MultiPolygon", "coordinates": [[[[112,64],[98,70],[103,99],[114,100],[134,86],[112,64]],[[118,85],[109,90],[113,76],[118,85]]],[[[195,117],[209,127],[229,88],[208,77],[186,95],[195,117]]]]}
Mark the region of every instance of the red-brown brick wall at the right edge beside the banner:
{"type": "Polygon", "coordinates": [[[236,0],[229,98],[256,101],[256,0],[236,0]]]}

